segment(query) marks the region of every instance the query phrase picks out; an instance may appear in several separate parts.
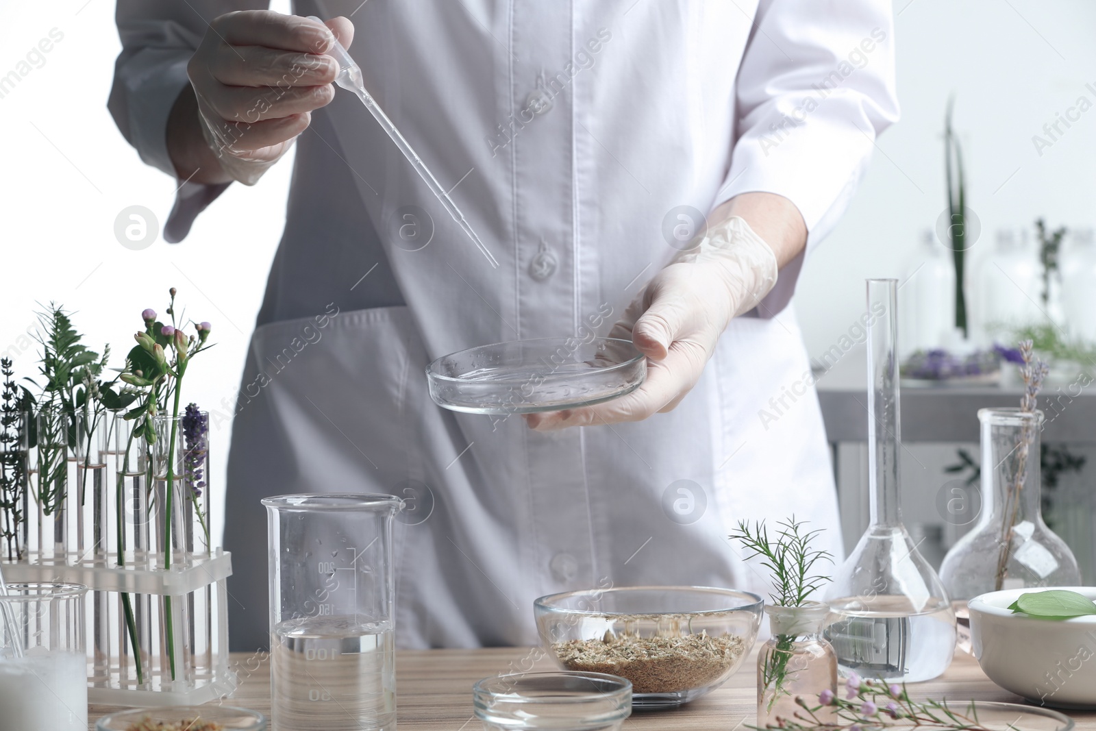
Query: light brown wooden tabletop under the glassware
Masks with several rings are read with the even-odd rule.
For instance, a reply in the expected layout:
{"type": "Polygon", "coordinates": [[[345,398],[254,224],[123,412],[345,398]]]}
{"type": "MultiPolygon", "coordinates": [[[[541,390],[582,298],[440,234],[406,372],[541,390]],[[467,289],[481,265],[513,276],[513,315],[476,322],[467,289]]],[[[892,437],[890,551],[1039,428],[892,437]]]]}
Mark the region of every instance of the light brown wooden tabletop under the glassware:
{"type": "MultiPolygon", "coordinates": [[[[266,716],[271,711],[270,658],[266,653],[233,653],[240,687],[225,705],[242,706],[266,716]]],[[[414,650],[397,653],[398,721],[400,731],[480,731],[472,715],[472,684],[500,673],[526,670],[557,670],[537,648],[486,650],[414,650]]],[[[684,731],[733,731],[755,722],[756,649],[721,688],[670,711],[633,712],[625,729],[682,729],[684,731]]],[[[949,703],[1021,698],[994,685],[974,659],[957,652],[951,666],[935,681],[910,685],[915,698],[946,698],[949,703]]],[[[114,710],[92,706],[90,728],[95,719],[114,710]]],[[[1076,720],[1078,731],[1096,731],[1096,712],[1063,711],[1076,720]]],[[[317,729],[316,731],[323,731],[317,729]]]]}

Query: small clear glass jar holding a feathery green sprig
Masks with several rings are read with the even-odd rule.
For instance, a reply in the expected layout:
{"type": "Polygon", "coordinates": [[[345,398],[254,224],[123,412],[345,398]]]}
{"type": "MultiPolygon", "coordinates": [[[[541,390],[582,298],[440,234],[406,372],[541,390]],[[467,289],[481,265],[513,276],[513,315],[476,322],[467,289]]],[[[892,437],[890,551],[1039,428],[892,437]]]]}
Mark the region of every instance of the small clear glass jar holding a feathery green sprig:
{"type": "MultiPolygon", "coordinates": [[[[766,605],[772,637],[757,653],[757,726],[775,726],[779,718],[795,718],[802,696],[818,705],[825,689],[837,693],[837,655],[822,638],[830,607],[807,602],[798,607],[766,605]]],[[[819,720],[832,706],[817,711],[819,720]]]]}

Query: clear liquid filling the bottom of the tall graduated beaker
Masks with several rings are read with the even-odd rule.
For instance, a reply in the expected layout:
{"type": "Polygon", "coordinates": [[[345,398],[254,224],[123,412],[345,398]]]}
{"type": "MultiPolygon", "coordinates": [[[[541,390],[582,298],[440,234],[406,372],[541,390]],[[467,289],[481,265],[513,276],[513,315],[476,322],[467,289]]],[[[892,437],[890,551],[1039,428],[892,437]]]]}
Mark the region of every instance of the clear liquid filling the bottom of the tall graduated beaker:
{"type": "Polygon", "coordinates": [[[391,625],[354,617],[289,619],[271,638],[274,731],[392,731],[391,625]]]}

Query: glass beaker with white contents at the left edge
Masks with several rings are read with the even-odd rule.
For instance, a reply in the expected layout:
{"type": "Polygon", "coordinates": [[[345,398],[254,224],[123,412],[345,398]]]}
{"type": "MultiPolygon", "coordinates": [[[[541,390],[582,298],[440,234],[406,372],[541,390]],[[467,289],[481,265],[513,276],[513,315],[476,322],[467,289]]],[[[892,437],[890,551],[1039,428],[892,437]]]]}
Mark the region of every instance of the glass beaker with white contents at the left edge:
{"type": "Polygon", "coordinates": [[[80,584],[8,584],[0,595],[0,726],[85,731],[88,661],[80,584]]]}

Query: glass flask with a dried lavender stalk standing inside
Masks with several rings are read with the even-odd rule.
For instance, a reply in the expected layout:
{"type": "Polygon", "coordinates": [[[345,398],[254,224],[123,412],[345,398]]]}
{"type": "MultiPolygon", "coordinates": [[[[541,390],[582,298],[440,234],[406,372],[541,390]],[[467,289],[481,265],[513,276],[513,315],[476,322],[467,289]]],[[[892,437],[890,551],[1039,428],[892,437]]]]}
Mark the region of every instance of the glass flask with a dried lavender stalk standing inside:
{"type": "MultiPolygon", "coordinates": [[[[940,567],[960,631],[968,599],[1002,589],[1078,586],[1081,571],[1065,542],[1042,521],[1039,489],[1041,411],[981,409],[982,512],[940,567]]],[[[960,637],[960,646],[966,646],[960,637]]]]}

